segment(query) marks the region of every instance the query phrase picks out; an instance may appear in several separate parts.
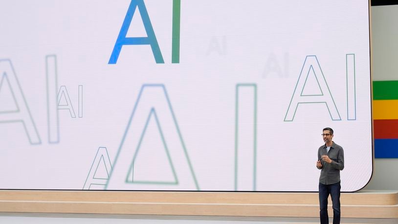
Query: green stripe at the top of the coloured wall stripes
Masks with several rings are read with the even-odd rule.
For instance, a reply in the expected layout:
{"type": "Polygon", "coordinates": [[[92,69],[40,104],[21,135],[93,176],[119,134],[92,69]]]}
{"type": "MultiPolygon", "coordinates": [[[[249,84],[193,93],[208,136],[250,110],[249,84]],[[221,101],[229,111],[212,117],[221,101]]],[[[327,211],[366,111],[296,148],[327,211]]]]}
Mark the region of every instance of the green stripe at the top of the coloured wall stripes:
{"type": "Polygon", "coordinates": [[[374,100],[398,100],[398,80],[373,81],[374,100]]]}

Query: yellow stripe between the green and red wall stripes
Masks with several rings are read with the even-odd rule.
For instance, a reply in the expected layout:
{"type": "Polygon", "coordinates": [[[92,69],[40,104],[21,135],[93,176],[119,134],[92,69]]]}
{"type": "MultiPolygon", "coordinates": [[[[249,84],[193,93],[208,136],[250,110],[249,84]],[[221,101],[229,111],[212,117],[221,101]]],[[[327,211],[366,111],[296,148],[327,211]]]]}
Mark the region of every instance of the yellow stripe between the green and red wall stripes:
{"type": "Polygon", "coordinates": [[[398,100],[374,100],[373,119],[398,119],[398,100]]]}

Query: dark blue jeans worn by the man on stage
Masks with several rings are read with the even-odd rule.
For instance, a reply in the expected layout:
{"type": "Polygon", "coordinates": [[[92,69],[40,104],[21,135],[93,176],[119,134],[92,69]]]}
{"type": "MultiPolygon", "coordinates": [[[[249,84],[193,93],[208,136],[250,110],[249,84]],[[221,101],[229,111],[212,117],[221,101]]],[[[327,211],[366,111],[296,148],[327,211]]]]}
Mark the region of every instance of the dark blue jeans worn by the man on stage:
{"type": "Polygon", "coordinates": [[[321,211],[319,215],[321,217],[321,224],[329,224],[328,216],[328,197],[329,194],[332,197],[333,203],[333,224],[340,224],[340,182],[333,184],[322,184],[319,183],[319,205],[321,211]]]}

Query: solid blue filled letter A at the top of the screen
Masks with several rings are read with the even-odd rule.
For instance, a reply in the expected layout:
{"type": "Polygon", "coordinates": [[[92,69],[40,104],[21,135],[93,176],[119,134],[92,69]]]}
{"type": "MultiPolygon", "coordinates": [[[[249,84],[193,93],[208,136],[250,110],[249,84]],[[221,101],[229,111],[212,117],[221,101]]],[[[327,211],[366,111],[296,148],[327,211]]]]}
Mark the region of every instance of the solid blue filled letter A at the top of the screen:
{"type": "Polygon", "coordinates": [[[151,20],[149,19],[148,12],[144,4],[144,0],[131,1],[108,64],[116,64],[123,45],[151,45],[156,63],[164,63],[162,53],[160,52],[159,45],[157,44],[154,29],[152,28],[151,20]],[[126,37],[137,6],[148,37],[126,37]]]}

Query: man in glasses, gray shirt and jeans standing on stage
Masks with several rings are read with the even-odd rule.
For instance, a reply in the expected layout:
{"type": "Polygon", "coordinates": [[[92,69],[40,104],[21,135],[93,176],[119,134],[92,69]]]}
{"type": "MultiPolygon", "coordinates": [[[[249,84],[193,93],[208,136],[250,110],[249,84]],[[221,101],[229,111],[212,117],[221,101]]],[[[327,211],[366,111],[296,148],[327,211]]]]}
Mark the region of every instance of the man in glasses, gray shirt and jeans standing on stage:
{"type": "Polygon", "coordinates": [[[321,170],[319,177],[319,205],[321,224],[329,224],[328,197],[332,197],[333,224],[340,223],[340,170],[344,169],[343,148],[332,141],[333,130],[323,129],[324,145],[318,149],[316,168],[321,170]]]}

